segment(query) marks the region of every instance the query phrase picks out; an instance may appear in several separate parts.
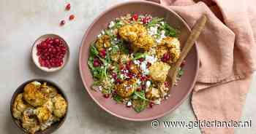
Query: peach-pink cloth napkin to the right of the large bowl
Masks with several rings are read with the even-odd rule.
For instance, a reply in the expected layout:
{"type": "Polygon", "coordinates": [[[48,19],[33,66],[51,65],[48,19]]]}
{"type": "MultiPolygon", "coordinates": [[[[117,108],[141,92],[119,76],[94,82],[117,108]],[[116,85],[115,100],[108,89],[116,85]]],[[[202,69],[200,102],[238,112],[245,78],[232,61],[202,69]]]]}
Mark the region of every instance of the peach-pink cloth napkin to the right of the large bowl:
{"type": "MultiPolygon", "coordinates": [[[[238,121],[255,70],[255,0],[151,0],[173,9],[190,27],[203,14],[206,28],[197,40],[200,70],[192,93],[197,119],[238,121]]],[[[201,128],[204,134],[231,134],[233,128],[201,128]]]]}

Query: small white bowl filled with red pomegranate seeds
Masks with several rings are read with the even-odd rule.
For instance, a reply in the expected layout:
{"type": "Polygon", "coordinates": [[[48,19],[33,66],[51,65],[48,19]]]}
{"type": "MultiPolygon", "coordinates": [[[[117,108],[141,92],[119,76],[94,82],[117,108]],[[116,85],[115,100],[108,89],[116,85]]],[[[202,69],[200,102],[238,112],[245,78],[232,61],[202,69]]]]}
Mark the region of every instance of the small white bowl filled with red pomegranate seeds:
{"type": "Polygon", "coordinates": [[[45,34],[34,42],[32,59],[42,71],[59,71],[69,60],[69,46],[60,36],[45,34]]]}

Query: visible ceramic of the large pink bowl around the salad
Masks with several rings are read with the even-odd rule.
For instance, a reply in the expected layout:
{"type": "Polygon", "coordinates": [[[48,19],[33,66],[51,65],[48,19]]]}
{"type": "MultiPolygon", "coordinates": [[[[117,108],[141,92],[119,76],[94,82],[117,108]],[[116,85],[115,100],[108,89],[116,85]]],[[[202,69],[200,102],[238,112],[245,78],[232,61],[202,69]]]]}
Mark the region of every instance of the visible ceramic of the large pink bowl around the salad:
{"type": "Polygon", "coordinates": [[[100,31],[102,31],[102,29],[108,27],[108,23],[110,23],[111,20],[131,12],[138,14],[148,13],[153,17],[164,17],[167,23],[181,31],[180,35],[178,36],[181,44],[184,44],[189,36],[190,30],[187,23],[185,23],[180,16],[167,7],[163,7],[159,4],[148,1],[129,1],[123,4],[118,4],[99,15],[99,17],[97,17],[87,29],[80,46],[80,76],[82,77],[83,84],[86,87],[87,92],[89,92],[91,98],[93,98],[93,100],[102,109],[108,111],[110,114],[132,121],[157,119],[180,106],[192,91],[199,65],[196,46],[193,47],[189,52],[189,55],[186,58],[186,65],[184,66],[184,76],[181,77],[181,81],[178,82],[178,86],[173,87],[170,90],[170,98],[163,101],[159,106],[154,106],[153,109],[146,109],[138,114],[133,109],[127,108],[123,104],[117,104],[110,98],[104,98],[101,92],[95,92],[90,88],[94,80],[89,70],[89,66],[87,65],[89,58],[89,45],[96,39],[97,35],[100,33],[100,31]]]}

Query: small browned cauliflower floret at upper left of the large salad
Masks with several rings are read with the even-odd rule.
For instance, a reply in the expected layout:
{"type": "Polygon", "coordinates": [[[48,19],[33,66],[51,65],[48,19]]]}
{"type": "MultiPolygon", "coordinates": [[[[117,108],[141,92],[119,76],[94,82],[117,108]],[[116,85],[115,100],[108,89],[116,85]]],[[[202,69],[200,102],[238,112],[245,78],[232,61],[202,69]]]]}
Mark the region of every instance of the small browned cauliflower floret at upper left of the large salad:
{"type": "Polygon", "coordinates": [[[97,50],[102,50],[102,48],[108,48],[110,46],[110,36],[108,35],[102,35],[96,41],[97,50]]]}

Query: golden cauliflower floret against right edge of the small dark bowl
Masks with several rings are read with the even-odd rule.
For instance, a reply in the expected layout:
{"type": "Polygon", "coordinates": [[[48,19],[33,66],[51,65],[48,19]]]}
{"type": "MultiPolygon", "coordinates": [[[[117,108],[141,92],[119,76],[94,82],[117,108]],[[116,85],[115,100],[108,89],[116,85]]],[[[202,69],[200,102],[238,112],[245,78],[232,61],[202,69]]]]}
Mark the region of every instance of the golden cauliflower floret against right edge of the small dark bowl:
{"type": "Polygon", "coordinates": [[[67,111],[67,102],[66,100],[61,96],[61,95],[56,95],[53,99],[53,114],[56,117],[64,117],[64,115],[66,114],[67,111]]]}

